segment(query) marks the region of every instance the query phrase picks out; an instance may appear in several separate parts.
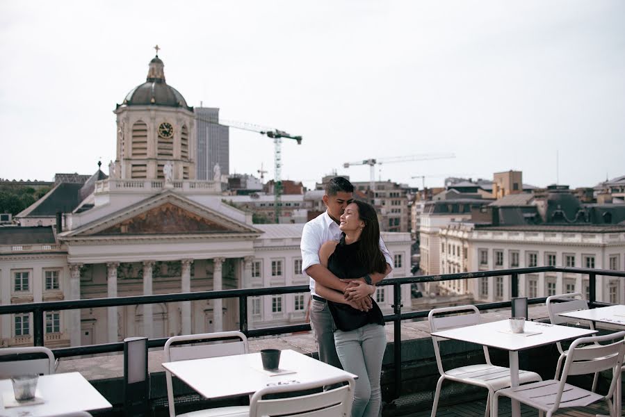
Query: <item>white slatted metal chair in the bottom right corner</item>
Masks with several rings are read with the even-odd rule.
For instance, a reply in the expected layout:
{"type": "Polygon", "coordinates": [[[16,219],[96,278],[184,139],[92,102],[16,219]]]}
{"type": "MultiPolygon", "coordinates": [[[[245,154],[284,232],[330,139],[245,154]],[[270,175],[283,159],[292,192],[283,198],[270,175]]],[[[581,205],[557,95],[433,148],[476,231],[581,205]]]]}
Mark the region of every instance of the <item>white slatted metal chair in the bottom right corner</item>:
{"type": "Polygon", "coordinates": [[[582,337],[576,339],[567,354],[562,379],[549,379],[547,381],[535,382],[515,388],[502,389],[495,393],[493,398],[493,417],[497,416],[499,396],[504,395],[512,400],[523,402],[530,407],[535,407],[540,411],[546,411],[546,417],[551,417],[554,411],[565,407],[586,407],[593,402],[605,400],[610,409],[610,416],[615,417],[616,413],[612,407],[612,394],[618,379],[625,353],[625,332],[606,334],[605,336],[582,337]],[[600,345],[599,342],[612,343],[600,345]],[[596,343],[587,345],[588,343],[596,343]],[[586,345],[585,345],[586,344],[586,345]],[[585,345],[585,346],[581,346],[585,345]],[[577,386],[567,384],[569,375],[587,375],[599,373],[602,370],[612,369],[612,383],[606,395],[587,391],[577,386]]]}

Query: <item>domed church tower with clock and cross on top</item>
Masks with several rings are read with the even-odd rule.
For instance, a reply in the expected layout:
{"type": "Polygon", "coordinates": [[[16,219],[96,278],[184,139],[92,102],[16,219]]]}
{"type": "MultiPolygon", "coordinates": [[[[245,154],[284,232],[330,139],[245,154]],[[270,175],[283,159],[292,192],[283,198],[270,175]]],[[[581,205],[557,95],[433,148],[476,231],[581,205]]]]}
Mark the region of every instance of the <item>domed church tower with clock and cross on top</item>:
{"type": "Polygon", "coordinates": [[[149,62],[145,83],[117,104],[117,179],[195,179],[193,107],[165,82],[163,61],[149,62]],[[167,175],[163,173],[168,172],[167,175]]]}

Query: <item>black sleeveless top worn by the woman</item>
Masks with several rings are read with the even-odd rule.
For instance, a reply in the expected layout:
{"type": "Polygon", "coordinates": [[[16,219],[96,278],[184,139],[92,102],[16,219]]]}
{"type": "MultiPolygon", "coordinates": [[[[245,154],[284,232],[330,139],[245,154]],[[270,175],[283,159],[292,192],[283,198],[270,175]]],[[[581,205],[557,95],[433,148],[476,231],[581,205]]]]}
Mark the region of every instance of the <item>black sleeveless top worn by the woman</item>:
{"type": "MultiPolygon", "coordinates": [[[[341,279],[364,277],[370,273],[371,271],[368,270],[367,266],[358,259],[359,247],[360,240],[347,245],[345,234],[341,234],[339,244],[336,245],[334,252],[327,259],[327,269],[341,279]]],[[[384,316],[380,307],[375,303],[375,300],[372,299],[371,301],[373,301],[373,308],[369,311],[359,311],[348,304],[330,300],[327,304],[330,307],[330,313],[332,313],[336,327],[343,332],[348,332],[370,323],[384,325],[384,316]]]]}

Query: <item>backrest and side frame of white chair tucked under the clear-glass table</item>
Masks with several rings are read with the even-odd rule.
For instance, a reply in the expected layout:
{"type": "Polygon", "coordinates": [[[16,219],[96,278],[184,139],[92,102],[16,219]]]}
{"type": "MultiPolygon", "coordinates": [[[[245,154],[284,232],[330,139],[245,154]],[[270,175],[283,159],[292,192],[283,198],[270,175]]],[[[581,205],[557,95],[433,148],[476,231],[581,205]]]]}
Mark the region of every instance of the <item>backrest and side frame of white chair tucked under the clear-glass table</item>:
{"type": "MultiPolygon", "coordinates": [[[[457,327],[479,325],[480,310],[478,310],[478,307],[473,305],[432,309],[428,314],[428,323],[430,324],[430,334],[434,332],[440,332],[442,330],[455,329],[457,327]]],[[[444,340],[446,339],[432,336],[436,363],[439,368],[439,373],[441,375],[445,373],[445,370],[443,368],[443,362],[441,360],[439,342],[444,340]]],[[[486,362],[490,365],[491,362],[487,347],[483,346],[483,351],[486,362]]]]}

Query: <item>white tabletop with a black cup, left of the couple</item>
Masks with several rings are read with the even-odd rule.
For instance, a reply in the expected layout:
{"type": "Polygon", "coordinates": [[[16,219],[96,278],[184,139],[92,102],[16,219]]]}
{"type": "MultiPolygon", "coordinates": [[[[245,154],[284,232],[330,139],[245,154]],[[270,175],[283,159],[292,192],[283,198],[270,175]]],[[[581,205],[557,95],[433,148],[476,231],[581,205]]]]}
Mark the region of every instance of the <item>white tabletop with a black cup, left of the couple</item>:
{"type": "Polygon", "coordinates": [[[163,368],[205,398],[250,395],[268,385],[314,382],[321,377],[357,377],[294,350],[282,350],[279,367],[288,373],[263,370],[260,353],[163,363],[163,368]]]}

